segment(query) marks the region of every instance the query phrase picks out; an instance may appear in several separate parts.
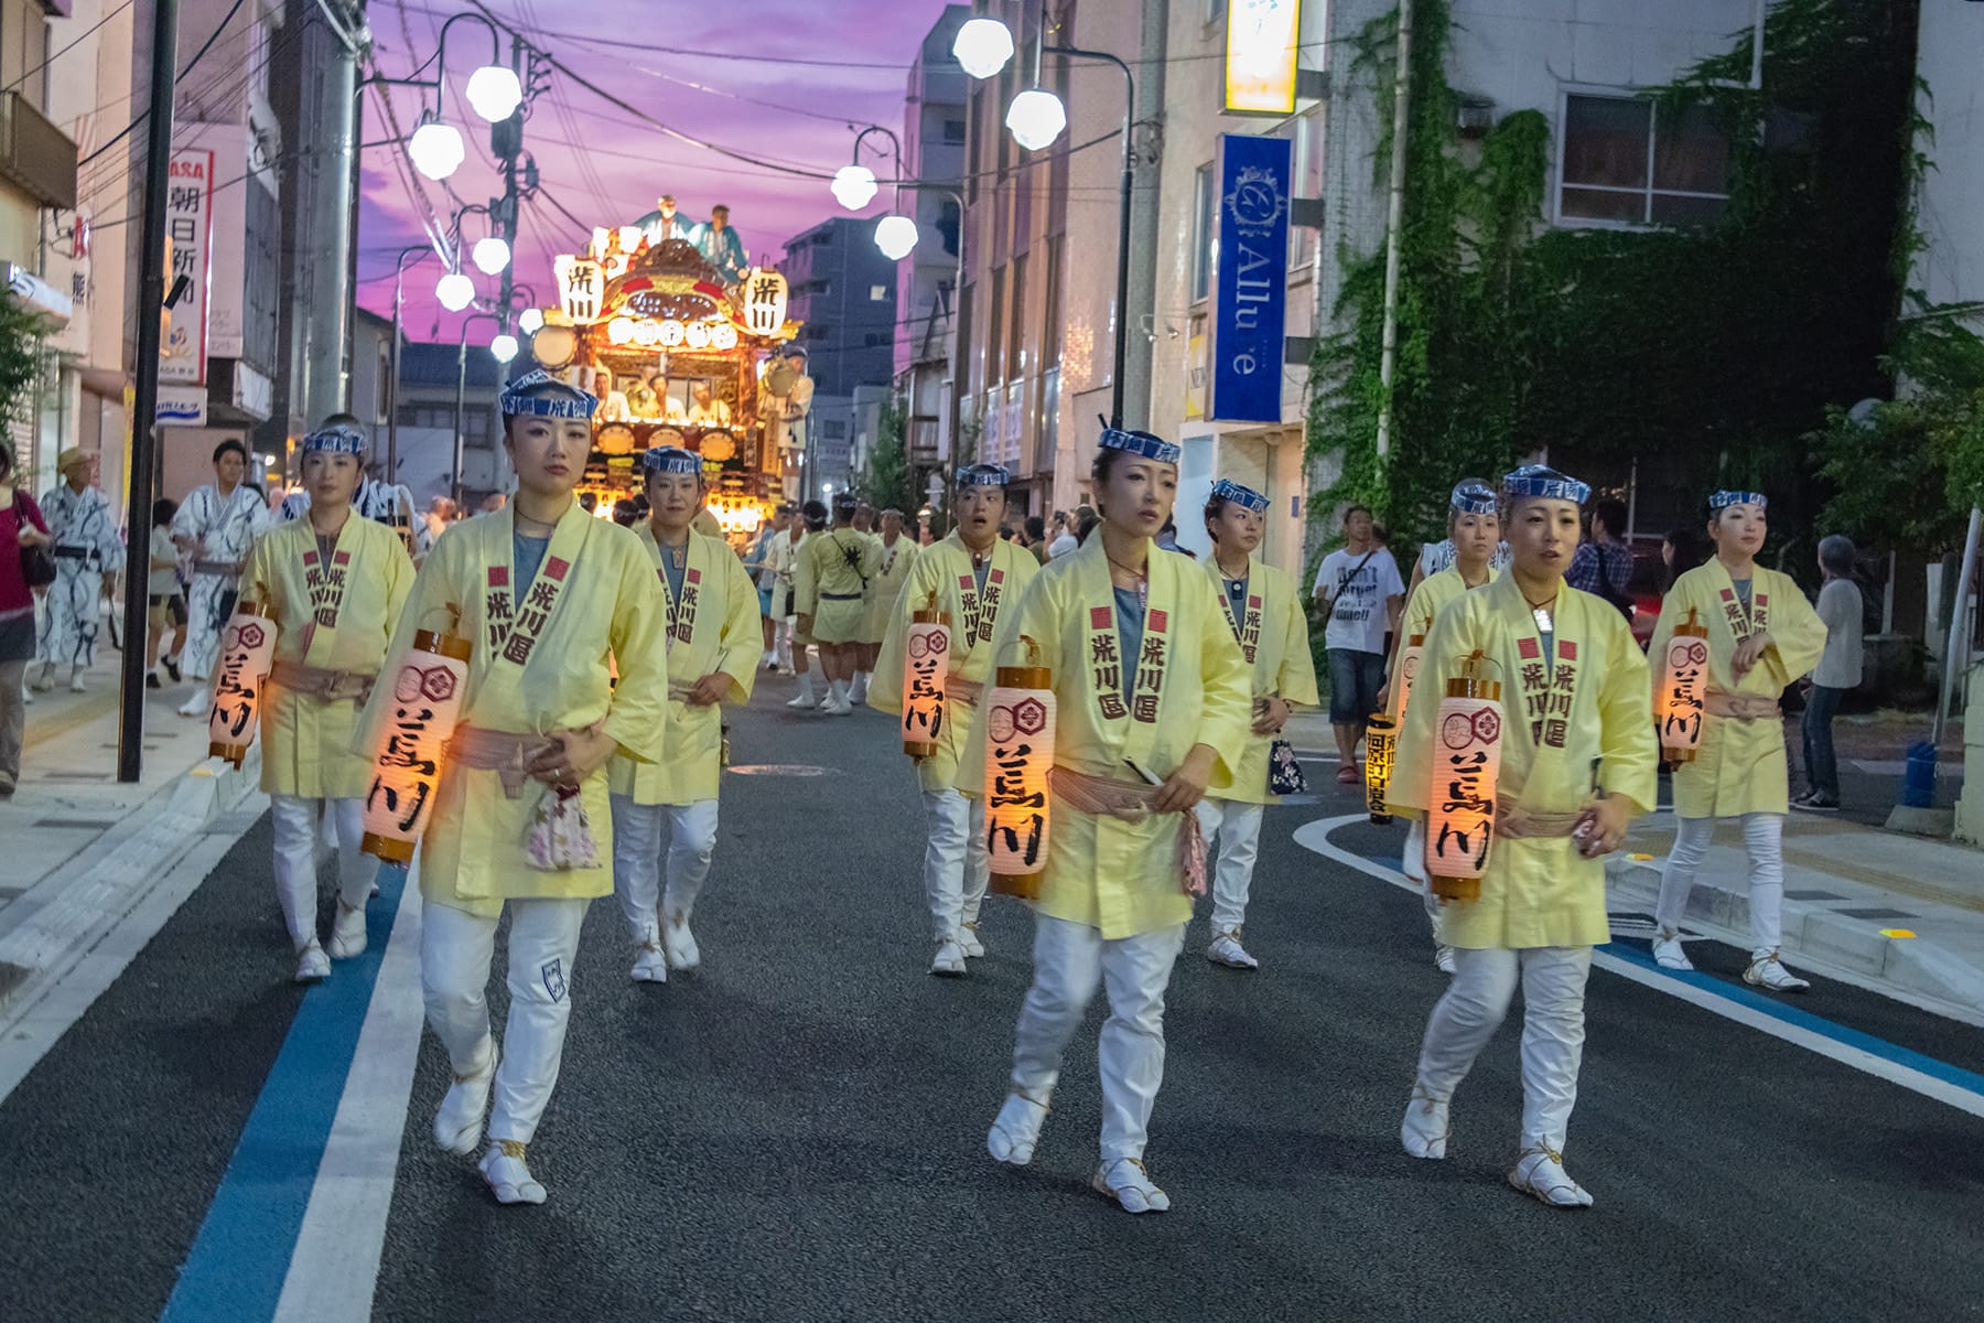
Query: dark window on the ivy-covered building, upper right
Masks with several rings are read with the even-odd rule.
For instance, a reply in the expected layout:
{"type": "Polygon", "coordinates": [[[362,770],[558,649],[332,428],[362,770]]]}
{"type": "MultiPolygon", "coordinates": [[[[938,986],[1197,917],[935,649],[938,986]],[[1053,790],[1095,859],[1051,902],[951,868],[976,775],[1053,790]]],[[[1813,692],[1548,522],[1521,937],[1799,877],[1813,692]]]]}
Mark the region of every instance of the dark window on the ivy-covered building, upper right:
{"type": "Polygon", "coordinates": [[[1702,107],[1563,97],[1559,220],[1712,224],[1728,206],[1730,145],[1702,107]]]}

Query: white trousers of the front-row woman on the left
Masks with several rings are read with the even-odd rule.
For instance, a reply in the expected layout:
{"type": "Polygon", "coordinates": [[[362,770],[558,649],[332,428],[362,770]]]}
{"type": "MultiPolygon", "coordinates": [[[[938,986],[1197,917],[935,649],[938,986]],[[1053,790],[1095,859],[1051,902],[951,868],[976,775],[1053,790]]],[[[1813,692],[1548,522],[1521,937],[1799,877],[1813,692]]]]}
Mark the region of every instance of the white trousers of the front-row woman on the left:
{"type": "MultiPolygon", "coordinates": [[[[558,1083],[571,1018],[571,960],[589,901],[510,901],[510,1023],[496,1067],[490,1139],[528,1144],[558,1083]]],[[[421,906],[421,992],[427,1023],[456,1075],[488,1061],[490,960],[496,918],[452,904],[421,906]]]]}

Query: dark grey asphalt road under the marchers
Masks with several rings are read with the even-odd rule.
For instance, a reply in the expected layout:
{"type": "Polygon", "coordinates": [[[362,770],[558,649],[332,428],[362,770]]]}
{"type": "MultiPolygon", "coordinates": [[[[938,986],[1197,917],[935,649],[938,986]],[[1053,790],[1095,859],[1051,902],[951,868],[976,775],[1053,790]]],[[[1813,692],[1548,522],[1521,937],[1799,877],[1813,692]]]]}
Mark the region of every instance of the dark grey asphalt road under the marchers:
{"type": "MultiPolygon", "coordinates": [[[[1264,968],[1204,962],[1200,918],[1173,978],[1149,1162],[1175,1212],[1087,1192],[1099,1008],[1034,1166],[994,1164],[1030,918],[994,901],[988,958],[929,978],[893,722],[790,714],[788,694],[766,682],[736,716],[734,760],[788,770],[726,778],[704,968],[631,984],[617,914],[587,918],[530,1150],[550,1204],[500,1210],[434,1150],[446,1063],[423,1039],[377,1281],[353,1283],[373,1317],[1984,1315],[1984,1121],[1615,974],[1591,980],[1567,1148],[1595,1210],[1504,1184],[1516,1025],[1456,1101],[1452,1156],[1407,1158],[1442,976],[1417,899],[1292,839],[1355,811],[1327,766],[1323,803],[1268,815],[1264,968]]],[[[1333,841],[1395,859],[1399,835],[1333,841]]],[[[1696,950],[1734,978],[1734,952],[1696,950]]],[[[288,972],[264,821],[0,1103],[0,1319],[159,1317],[302,1004],[288,972]]],[[[1976,1029],[1873,994],[1798,1006],[1984,1069],[1976,1029]]],[[[250,1254],[286,1263],[288,1244],[250,1254]]]]}

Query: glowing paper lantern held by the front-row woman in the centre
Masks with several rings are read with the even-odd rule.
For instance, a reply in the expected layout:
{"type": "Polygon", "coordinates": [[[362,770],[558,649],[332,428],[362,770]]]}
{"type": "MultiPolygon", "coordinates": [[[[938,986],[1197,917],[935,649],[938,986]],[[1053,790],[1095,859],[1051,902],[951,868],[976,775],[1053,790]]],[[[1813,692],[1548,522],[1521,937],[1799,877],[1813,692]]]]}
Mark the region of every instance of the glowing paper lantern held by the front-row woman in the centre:
{"type": "Polygon", "coordinates": [[[984,704],[986,855],[992,893],[1034,899],[1048,867],[1054,672],[1000,666],[984,704]]]}

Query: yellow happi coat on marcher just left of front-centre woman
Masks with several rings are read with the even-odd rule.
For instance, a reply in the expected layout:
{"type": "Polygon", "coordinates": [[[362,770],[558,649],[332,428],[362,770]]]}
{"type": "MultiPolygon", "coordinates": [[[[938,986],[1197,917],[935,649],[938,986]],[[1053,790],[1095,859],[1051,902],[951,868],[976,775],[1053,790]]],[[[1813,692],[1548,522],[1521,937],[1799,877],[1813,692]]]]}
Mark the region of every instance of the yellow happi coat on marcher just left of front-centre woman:
{"type": "MultiPolygon", "coordinates": [[[[901,545],[901,543],[897,543],[901,545]]],[[[1040,573],[1040,561],[1006,540],[992,543],[986,567],[986,591],[978,593],[972,573],[972,553],[954,532],[923,549],[897,593],[889,633],[875,659],[875,678],[869,680],[869,706],[879,712],[903,712],[903,645],[909,637],[909,617],[930,605],[950,619],[950,676],[992,688],[992,639],[1004,617],[1012,615],[1020,595],[1040,573]],[[996,601],[994,601],[996,597],[996,601]]],[[[944,726],[936,732],[936,752],[917,760],[917,783],[925,791],[950,789],[958,783],[958,758],[972,734],[976,708],[950,698],[944,702],[944,726]]],[[[984,754],[980,752],[980,758],[984,754]]],[[[982,770],[980,770],[982,772],[982,770]]]]}

